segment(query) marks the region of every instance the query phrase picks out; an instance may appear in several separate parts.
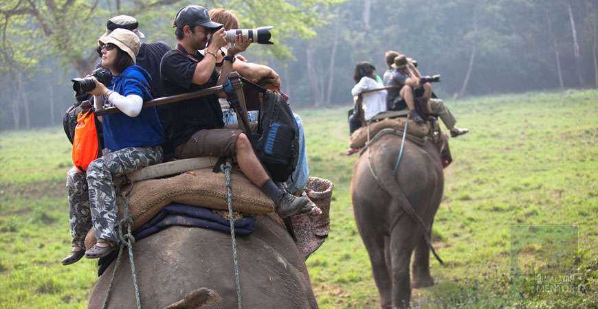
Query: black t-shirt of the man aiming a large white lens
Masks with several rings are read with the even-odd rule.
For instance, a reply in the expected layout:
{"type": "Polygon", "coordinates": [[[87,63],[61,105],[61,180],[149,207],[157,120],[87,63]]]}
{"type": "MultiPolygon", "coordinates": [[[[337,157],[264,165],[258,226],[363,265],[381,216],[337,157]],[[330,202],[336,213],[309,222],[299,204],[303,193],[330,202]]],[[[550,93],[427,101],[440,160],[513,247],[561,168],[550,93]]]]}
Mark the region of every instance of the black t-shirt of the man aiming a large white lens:
{"type": "MultiPolygon", "coordinates": [[[[190,56],[180,45],[164,54],[160,64],[160,73],[166,95],[190,93],[216,86],[219,77],[216,70],[212,72],[212,76],[206,84],[199,85],[191,82],[197,62],[203,59],[199,51],[196,55],[190,56]]],[[[163,117],[166,114],[163,112],[160,117],[162,117],[164,128],[167,128],[166,147],[170,148],[168,150],[186,143],[191,135],[199,130],[224,127],[217,95],[208,95],[165,106],[170,115],[163,117]]]]}

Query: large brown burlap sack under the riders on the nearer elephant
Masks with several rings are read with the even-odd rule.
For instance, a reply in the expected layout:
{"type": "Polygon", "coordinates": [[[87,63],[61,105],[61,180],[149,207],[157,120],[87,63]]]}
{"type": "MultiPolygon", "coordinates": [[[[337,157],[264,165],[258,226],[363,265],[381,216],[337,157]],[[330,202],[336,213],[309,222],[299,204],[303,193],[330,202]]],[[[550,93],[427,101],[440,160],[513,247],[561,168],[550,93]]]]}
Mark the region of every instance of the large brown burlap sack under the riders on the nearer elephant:
{"type": "MultiPolygon", "coordinates": [[[[233,210],[245,214],[274,212],[272,200],[243,173],[233,170],[230,178],[233,210]]],[[[123,201],[122,198],[118,200],[122,217],[123,201]]],[[[133,218],[131,231],[151,220],[170,203],[228,209],[224,174],[214,173],[212,168],[203,168],[166,179],[149,179],[134,183],[129,194],[129,212],[133,218]]],[[[95,242],[96,237],[91,230],[87,233],[85,247],[91,247],[95,242]]]]}

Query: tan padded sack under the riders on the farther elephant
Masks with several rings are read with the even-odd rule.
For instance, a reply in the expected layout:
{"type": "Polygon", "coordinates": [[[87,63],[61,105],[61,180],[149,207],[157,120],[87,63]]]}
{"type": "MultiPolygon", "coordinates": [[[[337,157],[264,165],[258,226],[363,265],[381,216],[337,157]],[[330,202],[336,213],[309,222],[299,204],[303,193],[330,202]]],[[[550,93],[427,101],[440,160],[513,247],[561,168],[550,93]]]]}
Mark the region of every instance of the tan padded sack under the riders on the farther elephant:
{"type": "MultiPolygon", "coordinates": [[[[390,118],[384,119],[379,122],[375,122],[370,124],[370,139],[375,137],[375,135],[385,128],[395,128],[397,130],[404,130],[405,122],[407,119],[405,117],[398,117],[398,118],[390,118]]],[[[413,135],[415,137],[424,137],[430,133],[430,126],[427,123],[418,124],[413,120],[408,120],[409,124],[407,125],[407,134],[413,135]]],[[[351,148],[362,148],[366,145],[368,141],[368,127],[362,126],[361,128],[355,130],[351,137],[349,137],[349,142],[351,148]]]]}

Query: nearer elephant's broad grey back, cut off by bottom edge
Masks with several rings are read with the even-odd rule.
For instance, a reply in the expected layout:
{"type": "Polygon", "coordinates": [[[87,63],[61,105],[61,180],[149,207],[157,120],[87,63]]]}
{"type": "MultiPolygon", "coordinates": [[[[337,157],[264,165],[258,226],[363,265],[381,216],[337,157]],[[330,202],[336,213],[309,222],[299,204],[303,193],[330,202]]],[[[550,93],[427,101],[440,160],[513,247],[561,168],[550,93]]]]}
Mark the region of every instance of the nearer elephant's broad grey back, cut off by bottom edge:
{"type": "MultiPolygon", "coordinates": [[[[236,308],[230,234],[168,227],[133,244],[142,308],[236,308]]],[[[256,231],[236,236],[244,308],[318,308],[307,267],[275,218],[256,216],[256,231]]],[[[126,249],[110,290],[109,308],[137,308],[126,249]]],[[[102,308],[115,262],[89,295],[102,308]]]]}

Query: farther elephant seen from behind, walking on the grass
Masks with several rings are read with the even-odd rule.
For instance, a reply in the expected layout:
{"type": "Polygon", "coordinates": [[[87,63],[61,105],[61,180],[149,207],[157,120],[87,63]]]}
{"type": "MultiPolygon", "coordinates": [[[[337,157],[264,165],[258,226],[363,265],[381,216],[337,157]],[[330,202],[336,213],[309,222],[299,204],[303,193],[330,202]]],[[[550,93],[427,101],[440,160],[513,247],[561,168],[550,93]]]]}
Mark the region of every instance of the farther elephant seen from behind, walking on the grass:
{"type": "Polygon", "coordinates": [[[379,135],[353,165],[351,199],[359,235],[368,251],[382,308],[410,306],[411,288],[432,286],[430,231],[443,194],[440,150],[429,139],[379,135]],[[417,216],[406,209],[412,207],[417,216]],[[410,281],[410,262],[413,280],[410,281]]]}

